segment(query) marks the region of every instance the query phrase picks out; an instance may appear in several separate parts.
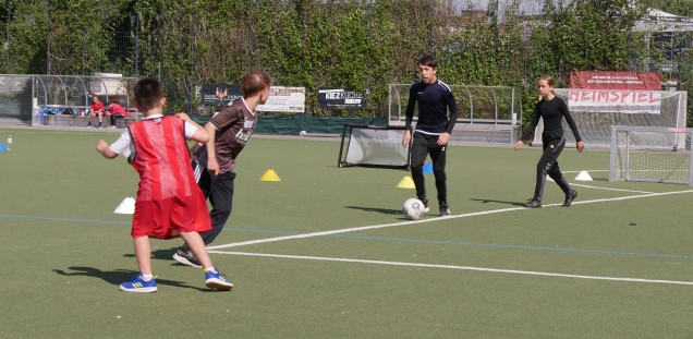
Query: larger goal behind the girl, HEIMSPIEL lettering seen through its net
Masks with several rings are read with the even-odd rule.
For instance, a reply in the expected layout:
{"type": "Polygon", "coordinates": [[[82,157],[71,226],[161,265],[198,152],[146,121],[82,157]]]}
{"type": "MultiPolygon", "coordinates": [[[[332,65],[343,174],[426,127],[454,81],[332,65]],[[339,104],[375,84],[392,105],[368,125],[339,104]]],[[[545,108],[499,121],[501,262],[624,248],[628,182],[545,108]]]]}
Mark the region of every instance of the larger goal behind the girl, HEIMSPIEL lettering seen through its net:
{"type": "MultiPolygon", "coordinates": [[[[585,147],[608,148],[612,125],[685,128],[686,92],[555,88],[568,105],[585,147]]],[[[542,144],[543,121],[534,132],[542,144]]],[[[563,119],[566,144],[575,145],[563,119]]]]}

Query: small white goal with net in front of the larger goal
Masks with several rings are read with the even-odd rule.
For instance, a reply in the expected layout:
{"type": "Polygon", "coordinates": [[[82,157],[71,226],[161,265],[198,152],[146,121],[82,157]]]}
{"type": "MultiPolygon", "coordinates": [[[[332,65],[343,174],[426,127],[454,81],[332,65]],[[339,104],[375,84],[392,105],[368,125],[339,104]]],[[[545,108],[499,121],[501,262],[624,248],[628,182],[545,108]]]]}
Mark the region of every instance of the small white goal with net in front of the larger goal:
{"type": "Polygon", "coordinates": [[[692,131],[679,128],[612,126],[609,181],[693,185],[692,131]]]}

